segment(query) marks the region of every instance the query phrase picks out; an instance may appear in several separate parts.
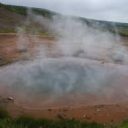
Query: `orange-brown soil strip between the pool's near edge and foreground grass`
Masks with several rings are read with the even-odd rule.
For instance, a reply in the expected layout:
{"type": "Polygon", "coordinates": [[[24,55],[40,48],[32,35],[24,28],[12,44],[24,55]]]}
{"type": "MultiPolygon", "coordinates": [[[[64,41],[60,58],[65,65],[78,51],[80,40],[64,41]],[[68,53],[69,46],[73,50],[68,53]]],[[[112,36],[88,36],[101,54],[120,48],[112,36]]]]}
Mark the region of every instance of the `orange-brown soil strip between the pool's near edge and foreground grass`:
{"type": "Polygon", "coordinates": [[[34,118],[77,119],[98,123],[119,123],[128,118],[128,104],[89,105],[81,107],[28,108],[8,106],[12,116],[28,115],[34,118]]]}

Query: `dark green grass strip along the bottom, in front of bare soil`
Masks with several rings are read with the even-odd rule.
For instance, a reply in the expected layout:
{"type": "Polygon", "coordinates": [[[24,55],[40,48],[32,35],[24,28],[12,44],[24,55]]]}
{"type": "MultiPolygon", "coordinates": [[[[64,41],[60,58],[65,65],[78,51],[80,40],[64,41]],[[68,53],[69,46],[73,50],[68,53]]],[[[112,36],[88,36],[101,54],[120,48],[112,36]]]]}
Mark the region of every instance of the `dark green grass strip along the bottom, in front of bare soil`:
{"type": "Polygon", "coordinates": [[[103,125],[75,119],[35,119],[25,115],[12,118],[4,108],[0,108],[0,128],[128,128],[128,121],[118,125],[103,125]]]}

